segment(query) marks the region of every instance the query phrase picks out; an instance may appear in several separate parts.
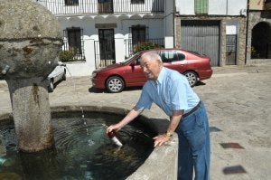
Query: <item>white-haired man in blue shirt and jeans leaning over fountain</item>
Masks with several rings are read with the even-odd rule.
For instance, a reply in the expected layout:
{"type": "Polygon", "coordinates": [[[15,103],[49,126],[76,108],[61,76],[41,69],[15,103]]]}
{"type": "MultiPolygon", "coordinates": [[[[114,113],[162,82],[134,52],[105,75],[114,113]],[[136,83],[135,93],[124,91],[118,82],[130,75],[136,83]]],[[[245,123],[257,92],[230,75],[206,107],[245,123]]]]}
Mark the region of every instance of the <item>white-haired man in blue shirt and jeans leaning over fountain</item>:
{"type": "Polygon", "coordinates": [[[154,137],[154,147],[162,146],[176,132],[179,137],[178,179],[207,180],[210,175],[210,132],[203,102],[192,90],[186,77],[163,66],[161,57],[145,53],[140,61],[147,81],[141,97],[125,118],[107,128],[119,130],[135,119],[144,109],[157,104],[170,117],[164,134],[154,137]]]}

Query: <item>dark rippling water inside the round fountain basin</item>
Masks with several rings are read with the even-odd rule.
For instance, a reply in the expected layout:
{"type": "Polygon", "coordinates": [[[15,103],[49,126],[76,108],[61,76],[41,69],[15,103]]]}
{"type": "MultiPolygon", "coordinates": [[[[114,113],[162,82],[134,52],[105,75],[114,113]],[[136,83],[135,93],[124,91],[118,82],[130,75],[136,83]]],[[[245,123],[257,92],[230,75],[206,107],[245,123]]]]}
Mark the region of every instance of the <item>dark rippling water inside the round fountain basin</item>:
{"type": "Polygon", "coordinates": [[[17,152],[14,126],[5,120],[0,127],[0,179],[10,179],[11,173],[25,179],[125,179],[153,151],[154,134],[140,124],[118,132],[125,144],[119,148],[101,124],[123,116],[88,111],[80,118],[80,113],[53,112],[55,146],[35,153],[17,152]]]}

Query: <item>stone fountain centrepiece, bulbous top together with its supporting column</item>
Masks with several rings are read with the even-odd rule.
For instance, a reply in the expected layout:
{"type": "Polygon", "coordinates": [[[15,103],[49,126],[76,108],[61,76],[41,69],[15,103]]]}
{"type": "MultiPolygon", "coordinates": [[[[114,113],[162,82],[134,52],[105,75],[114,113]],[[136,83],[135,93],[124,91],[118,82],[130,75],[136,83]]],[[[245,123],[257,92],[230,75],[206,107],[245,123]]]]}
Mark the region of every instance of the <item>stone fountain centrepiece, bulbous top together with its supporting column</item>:
{"type": "Polygon", "coordinates": [[[10,91],[18,147],[53,146],[47,76],[58,63],[61,32],[56,18],[30,0],[0,0],[0,80],[10,91]]]}

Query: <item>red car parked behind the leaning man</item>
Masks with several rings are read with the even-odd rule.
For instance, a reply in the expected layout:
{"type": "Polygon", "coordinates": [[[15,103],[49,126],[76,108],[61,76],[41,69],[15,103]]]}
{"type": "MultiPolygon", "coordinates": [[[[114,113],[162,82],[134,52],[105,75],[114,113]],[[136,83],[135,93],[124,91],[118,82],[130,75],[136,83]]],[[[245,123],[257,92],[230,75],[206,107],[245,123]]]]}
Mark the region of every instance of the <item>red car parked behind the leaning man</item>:
{"type": "Polygon", "coordinates": [[[209,79],[212,70],[210,58],[195,52],[182,49],[153,49],[137,52],[126,60],[109,65],[92,72],[92,86],[98,89],[107,89],[109,92],[120,92],[126,87],[143,86],[146,78],[140,68],[140,58],[144,52],[157,52],[164,62],[164,67],[184,74],[190,85],[198,81],[209,79]]]}

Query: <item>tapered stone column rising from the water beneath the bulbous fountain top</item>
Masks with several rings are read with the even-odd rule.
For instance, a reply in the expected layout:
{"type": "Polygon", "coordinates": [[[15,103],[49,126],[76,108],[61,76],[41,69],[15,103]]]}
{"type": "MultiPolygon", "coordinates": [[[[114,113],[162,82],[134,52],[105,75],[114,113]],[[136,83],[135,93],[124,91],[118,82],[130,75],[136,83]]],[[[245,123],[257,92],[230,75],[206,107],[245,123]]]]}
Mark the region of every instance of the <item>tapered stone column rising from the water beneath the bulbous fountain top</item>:
{"type": "Polygon", "coordinates": [[[41,78],[7,80],[14,113],[18,147],[37,152],[53,145],[47,82],[41,78]]]}

